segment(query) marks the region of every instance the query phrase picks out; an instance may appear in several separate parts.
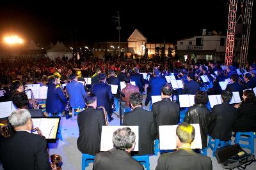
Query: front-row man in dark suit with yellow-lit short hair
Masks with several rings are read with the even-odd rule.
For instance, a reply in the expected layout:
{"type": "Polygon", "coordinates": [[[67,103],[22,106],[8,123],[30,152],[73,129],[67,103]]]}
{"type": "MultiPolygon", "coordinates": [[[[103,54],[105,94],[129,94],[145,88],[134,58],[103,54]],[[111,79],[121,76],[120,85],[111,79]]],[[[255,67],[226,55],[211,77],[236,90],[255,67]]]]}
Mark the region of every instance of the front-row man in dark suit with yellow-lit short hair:
{"type": "Polygon", "coordinates": [[[195,139],[195,128],[188,123],[178,125],[176,129],[177,151],[164,153],[159,157],[156,170],[196,169],[211,170],[211,158],[191,150],[190,145],[195,139]]]}

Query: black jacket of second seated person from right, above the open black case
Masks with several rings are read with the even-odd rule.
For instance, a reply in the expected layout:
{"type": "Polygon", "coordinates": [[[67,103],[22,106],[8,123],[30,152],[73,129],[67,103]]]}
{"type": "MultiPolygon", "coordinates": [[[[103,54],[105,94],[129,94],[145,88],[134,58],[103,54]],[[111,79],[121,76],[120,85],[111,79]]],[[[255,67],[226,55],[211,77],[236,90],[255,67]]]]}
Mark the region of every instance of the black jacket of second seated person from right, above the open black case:
{"type": "Polygon", "coordinates": [[[231,139],[232,126],[237,119],[237,109],[228,103],[213,106],[210,114],[209,134],[223,141],[231,139]]]}

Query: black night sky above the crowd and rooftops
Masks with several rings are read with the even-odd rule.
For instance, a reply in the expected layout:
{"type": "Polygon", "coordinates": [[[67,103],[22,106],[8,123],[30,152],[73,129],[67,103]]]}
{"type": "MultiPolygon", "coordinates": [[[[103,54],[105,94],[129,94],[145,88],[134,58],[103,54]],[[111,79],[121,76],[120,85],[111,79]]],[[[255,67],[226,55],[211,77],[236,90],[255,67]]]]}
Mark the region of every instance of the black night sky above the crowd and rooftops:
{"type": "MultiPolygon", "coordinates": [[[[118,41],[117,22],[111,21],[116,11],[120,11],[122,41],[136,28],[171,42],[200,35],[202,29],[227,32],[228,0],[34,2],[1,2],[1,37],[10,32],[40,43],[71,43],[72,37],[82,43],[118,41]]],[[[252,24],[255,19],[254,14],[252,24]]]]}

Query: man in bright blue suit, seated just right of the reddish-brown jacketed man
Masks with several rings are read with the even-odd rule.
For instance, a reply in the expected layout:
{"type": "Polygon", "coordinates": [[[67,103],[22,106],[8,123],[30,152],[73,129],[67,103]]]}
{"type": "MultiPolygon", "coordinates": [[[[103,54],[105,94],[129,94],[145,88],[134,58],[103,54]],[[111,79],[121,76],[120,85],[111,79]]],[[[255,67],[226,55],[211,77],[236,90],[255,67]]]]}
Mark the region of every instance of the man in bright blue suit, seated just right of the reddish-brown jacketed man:
{"type": "Polygon", "coordinates": [[[159,77],[160,71],[158,69],[154,69],[154,78],[148,81],[148,96],[145,101],[145,106],[151,101],[151,96],[159,96],[161,95],[161,89],[164,85],[166,85],[166,80],[164,78],[159,77]]]}

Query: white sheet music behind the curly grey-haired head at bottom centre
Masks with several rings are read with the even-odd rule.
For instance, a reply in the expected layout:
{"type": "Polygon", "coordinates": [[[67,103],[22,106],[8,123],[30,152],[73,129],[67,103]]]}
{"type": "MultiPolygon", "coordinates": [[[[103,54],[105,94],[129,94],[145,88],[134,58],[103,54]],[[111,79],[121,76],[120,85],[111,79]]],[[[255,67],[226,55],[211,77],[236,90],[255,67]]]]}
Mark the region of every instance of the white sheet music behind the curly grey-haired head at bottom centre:
{"type": "Polygon", "coordinates": [[[100,151],[108,151],[113,148],[113,132],[119,128],[130,127],[136,135],[134,151],[139,150],[139,127],[138,126],[102,126],[100,151]]]}

